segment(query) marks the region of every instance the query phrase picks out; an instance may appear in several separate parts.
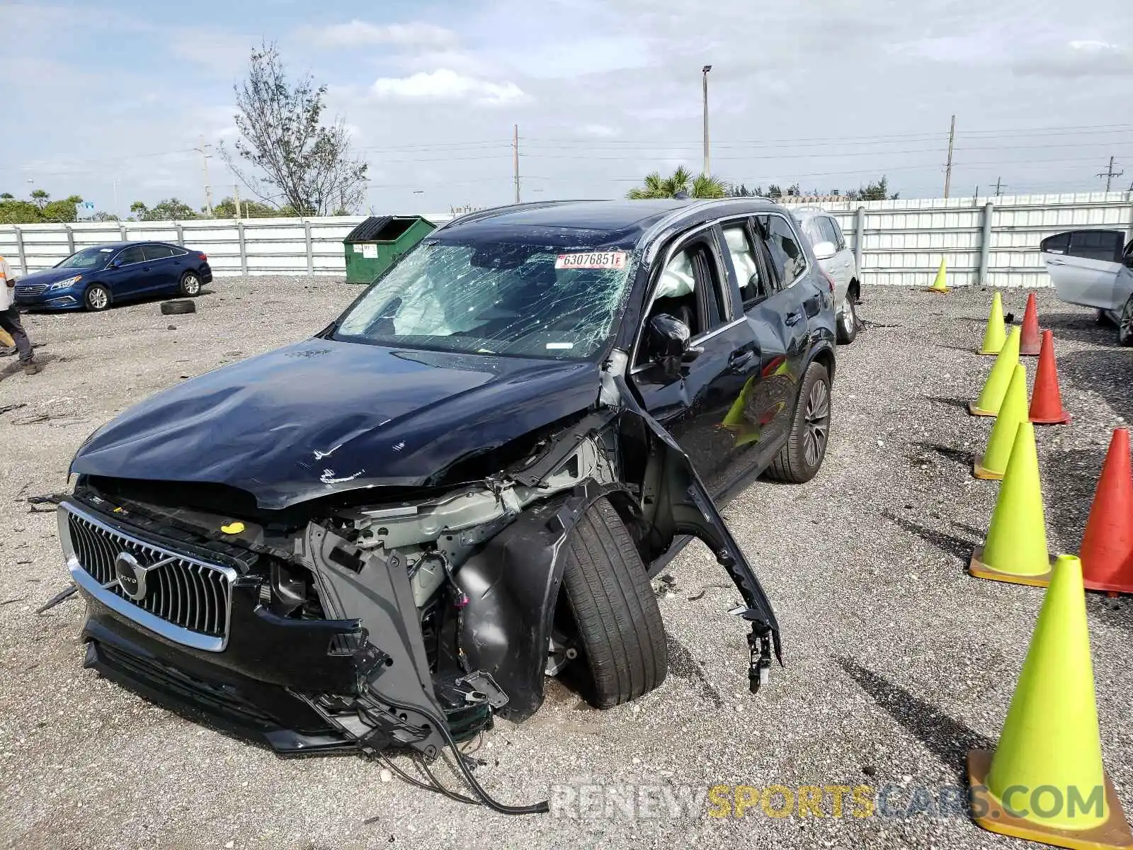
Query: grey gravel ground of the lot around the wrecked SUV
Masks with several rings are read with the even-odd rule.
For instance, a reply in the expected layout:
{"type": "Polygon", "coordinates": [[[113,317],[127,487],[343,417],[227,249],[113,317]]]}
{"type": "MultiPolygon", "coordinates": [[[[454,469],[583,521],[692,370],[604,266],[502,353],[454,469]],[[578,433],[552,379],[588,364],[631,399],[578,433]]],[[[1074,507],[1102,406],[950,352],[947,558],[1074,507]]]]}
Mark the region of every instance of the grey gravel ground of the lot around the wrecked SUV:
{"type": "MultiPolygon", "coordinates": [[[[24,498],[61,491],[97,425],[179,380],[284,342],[357,289],[333,280],[219,280],[198,313],[156,303],[107,314],[26,317],[45,371],[0,360],[0,818],[11,848],[1020,847],[966,817],[572,821],[504,817],[383,782],[361,758],[283,760],[154,707],[82,669],[82,604],[34,610],[67,585],[54,516],[24,498]],[[170,325],[174,325],[170,328],[170,325]]],[[[1005,294],[1022,315],[1023,295],[1005,294]]],[[[783,629],[786,669],[747,692],[736,600],[693,544],[656,583],[671,641],[664,687],[597,712],[553,685],[522,725],[501,721],[478,755],[505,801],[552,783],[614,785],[962,784],[964,751],[999,733],[1042,600],[966,577],[997,485],[968,467],[991,422],[962,405],[990,292],[869,290],[869,323],[840,349],[826,464],[803,486],[758,483],[725,511],[783,629]]],[[[1110,430],[1133,416],[1133,350],[1092,314],[1039,292],[1074,422],[1038,431],[1053,551],[1081,539],[1110,430]]],[[[1028,359],[1033,377],[1033,359],[1028,359]]],[[[1133,811],[1133,607],[1091,595],[1102,747],[1133,811]]],[[[830,811],[829,798],[825,805],[830,811]]],[[[849,807],[849,806],[847,806],[849,807]]]]}

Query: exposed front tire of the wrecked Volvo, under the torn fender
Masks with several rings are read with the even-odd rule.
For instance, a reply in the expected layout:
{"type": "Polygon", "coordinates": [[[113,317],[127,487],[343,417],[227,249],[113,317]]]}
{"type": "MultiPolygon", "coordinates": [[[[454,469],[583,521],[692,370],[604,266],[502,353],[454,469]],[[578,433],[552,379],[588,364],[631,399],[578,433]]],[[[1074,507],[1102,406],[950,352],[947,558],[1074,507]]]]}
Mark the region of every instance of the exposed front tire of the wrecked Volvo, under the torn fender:
{"type": "Polygon", "coordinates": [[[590,705],[612,708],[665,681],[668,646],[657,597],[633,538],[605,499],[568,538],[563,597],[578,636],[572,672],[590,705]]]}

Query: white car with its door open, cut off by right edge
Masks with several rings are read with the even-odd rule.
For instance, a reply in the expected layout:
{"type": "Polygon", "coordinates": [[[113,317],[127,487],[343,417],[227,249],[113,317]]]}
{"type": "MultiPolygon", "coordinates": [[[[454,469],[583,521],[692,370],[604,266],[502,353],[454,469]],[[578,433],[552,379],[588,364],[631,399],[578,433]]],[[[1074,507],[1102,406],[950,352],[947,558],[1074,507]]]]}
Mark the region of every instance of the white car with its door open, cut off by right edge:
{"type": "Polygon", "coordinates": [[[1096,308],[1099,322],[1117,324],[1118,342],[1133,346],[1133,240],[1122,230],[1067,230],[1040,250],[1058,298],[1096,308]]]}

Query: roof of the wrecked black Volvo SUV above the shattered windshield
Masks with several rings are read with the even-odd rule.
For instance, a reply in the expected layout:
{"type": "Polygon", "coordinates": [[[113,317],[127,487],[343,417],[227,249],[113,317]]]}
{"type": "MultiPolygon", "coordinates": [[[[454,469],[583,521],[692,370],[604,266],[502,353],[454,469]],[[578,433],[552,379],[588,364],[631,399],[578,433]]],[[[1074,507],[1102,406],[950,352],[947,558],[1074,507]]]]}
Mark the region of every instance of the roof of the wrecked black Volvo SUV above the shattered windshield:
{"type": "Polygon", "coordinates": [[[595,244],[633,244],[668,221],[776,209],[765,198],[714,201],[552,201],[482,210],[434,231],[441,239],[480,238],[563,243],[586,235],[595,244]]]}

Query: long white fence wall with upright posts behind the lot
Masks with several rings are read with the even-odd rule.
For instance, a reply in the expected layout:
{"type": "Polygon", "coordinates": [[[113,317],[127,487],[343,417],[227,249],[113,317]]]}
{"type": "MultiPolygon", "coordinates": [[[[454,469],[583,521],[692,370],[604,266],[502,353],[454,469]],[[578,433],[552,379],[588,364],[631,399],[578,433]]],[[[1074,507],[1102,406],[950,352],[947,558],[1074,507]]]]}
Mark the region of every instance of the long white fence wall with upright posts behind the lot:
{"type": "MultiPolygon", "coordinates": [[[[783,202],[792,205],[790,198],[783,202]]],[[[1039,262],[1045,237],[1075,228],[1109,228],[1133,238],[1133,195],[1125,192],[824,201],[823,207],[859,252],[863,286],[928,284],[942,257],[951,286],[1048,286],[1039,262]]],[[[451,215],[425,218],[441,223],[451,215]]],[[[90,245],[160,239],[204,250],[218,275],[344,277],[342,238],[359,221],[361,216],[5,224],[0,254],[17,273],[33,272],[90,245]]]]}

